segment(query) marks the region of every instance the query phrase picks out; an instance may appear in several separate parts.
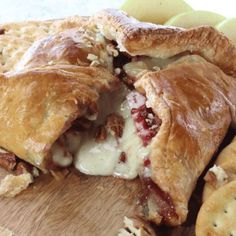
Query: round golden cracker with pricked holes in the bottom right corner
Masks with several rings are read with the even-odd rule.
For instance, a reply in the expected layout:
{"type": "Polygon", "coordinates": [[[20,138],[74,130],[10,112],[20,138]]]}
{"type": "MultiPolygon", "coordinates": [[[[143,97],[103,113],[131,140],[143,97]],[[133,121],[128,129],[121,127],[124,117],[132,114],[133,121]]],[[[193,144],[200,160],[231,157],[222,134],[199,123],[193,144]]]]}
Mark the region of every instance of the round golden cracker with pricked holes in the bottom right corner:
{"type": "Polygon", "coordinates": [[[202,205],[196,236],[236,235],[236,181],[216,190],[202,205]]]}

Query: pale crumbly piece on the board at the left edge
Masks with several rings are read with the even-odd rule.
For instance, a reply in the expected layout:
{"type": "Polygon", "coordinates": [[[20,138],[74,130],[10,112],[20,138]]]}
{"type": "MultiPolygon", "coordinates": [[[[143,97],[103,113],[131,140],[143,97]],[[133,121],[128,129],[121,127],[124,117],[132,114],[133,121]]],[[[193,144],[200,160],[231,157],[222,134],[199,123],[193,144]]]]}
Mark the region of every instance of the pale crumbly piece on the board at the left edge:
{"type": "Polygon", "coordinates": [[[30,173],[21,175],[7,175],[0,183],[0,196],[15,197],[17,194],[25,190],[33,182],[30,173]]]}

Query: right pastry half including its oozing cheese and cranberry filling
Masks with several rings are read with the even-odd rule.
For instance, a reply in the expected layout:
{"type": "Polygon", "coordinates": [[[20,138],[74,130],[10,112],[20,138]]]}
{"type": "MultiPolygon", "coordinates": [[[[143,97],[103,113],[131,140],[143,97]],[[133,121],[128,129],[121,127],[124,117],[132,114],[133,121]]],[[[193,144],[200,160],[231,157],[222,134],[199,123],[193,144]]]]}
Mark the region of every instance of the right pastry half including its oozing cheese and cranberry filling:
{"type": "Polygon", "coordinates": [[[76,167],[90,175],[139,175],[145,217],[179,225],[198,177],[232,122],[236,84],[203,58],[186,56],[139,74],[134,86],[101,103],[98,133],[87,132],[76,167]]]}

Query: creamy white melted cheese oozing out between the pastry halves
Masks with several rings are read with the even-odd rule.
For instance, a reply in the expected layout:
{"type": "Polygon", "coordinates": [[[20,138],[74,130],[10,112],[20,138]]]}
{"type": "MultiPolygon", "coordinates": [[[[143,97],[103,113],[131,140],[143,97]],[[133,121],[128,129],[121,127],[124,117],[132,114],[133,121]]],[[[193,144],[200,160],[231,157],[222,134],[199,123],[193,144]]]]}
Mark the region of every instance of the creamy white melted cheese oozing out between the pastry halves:
{"type": "Polygon", "coordinates": [[[105,141],[96,142],[92,133],[87,133],[81,142],[75,160],[76,168],[89,175],[114,175],[121,178],[133,179],[138,175],[142,159],[148,155],[148,148],[143,147],[142,141],[136,134],[133,119],[125,101],[127,89],[106,94],[100,100],[99,115],[96,124],[104,124],[106,116],[115,112],[124,120],[123,136],[117,140],[108,135],[105,141]],[[122,152],[126,161],[120,161],[122,152]]]}

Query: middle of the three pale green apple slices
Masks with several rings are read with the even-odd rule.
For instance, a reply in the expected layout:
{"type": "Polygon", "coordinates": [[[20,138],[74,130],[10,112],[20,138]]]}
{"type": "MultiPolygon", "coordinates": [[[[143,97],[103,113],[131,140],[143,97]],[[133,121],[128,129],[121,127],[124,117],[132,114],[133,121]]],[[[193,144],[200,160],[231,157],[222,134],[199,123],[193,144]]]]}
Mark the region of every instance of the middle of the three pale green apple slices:
{"type": "Polygon", "coordinates": [[[172,17],[165,25],[188,29],[202,25],[215,26],[224,19],[224,16],[210,11],[191,11],[172,17]]]}

